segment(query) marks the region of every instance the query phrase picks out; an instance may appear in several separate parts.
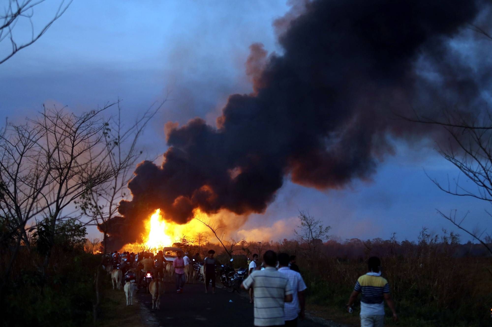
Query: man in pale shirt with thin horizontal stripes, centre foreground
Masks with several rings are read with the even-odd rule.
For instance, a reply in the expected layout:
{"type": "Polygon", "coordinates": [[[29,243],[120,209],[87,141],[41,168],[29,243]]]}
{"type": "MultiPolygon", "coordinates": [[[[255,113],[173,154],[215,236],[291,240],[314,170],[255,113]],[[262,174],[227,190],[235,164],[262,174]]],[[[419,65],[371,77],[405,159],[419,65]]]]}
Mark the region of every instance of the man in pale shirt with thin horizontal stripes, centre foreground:
{"type": "Polygon", "coordinates": [[[289,279],[275,269],[277,254],[268,250],[263,255],[265,270],[253,271],[241,285],[254,290],[254,326],[283,326],[284,303],[292,301],[289,279]]]}

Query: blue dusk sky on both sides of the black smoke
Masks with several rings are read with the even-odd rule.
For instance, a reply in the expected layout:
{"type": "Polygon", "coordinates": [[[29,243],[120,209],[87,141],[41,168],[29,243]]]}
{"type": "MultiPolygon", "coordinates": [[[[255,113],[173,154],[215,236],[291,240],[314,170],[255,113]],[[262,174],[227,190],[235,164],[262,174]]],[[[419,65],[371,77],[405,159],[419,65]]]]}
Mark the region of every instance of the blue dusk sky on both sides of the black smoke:
{"type": "MultiPolygon", "coordinates": [[[[0,65],[0,118],[22,121],[43,103],[80,112],[120,98],[130,122],[170,92],[141,139],[147,158],[160,163],[166,122],[201,117],[215,125],[230,94],[252,92],[245,73],[249,46],[260,42],[269,53],[281,53],[272,24],[289,8],[286,0],[75,0],[42,38],[0,65]]],[[[53,12],[43,4],[34,23],[53,12]]],[[[28,26],[16,30],[23,31],[29,34],[28,26]]],[[[7,46],[1,44],[0,54],[7,46]]],[[[387,239],[393,232],[399,241],[416,240],[423,226],[454,230],[436,209],[457,209],[459,216],[470,211],[465,226],[486,227],[487,203],[448,195],[426,176],[444,183],[459,176],[429,143],[395,143],[396,154],[386,156],[370,180],[344,189],[319,191],[287,176],[266,213],[250,215],[238,234],[291,238],[298,210],[322,219],[342,240],[387,239]]],[[[97,236],[95,228],[91,235],[97,236]]]]}

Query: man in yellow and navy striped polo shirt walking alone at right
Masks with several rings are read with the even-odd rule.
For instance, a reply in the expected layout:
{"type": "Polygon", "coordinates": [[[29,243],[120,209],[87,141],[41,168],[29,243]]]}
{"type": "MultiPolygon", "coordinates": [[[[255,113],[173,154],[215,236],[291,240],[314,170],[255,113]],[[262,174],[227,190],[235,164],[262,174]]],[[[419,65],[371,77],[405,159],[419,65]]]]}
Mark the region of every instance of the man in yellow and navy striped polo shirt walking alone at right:
{"type": "Polygon", "coordinates": [[[348,300],[347,310],[357,299],[361,297],[361,327],[382,327],[384,325],[384,300],[393,312],[393,320],[398,321],[395,303],[391,299],[390,285],[381,277],[381,260],[378,257],[370,257],[368,261],[369,273],[362,275],[355,283],[354,291],[348,300]]]}

